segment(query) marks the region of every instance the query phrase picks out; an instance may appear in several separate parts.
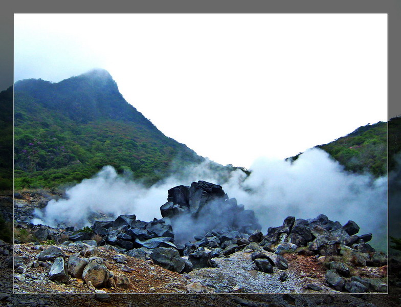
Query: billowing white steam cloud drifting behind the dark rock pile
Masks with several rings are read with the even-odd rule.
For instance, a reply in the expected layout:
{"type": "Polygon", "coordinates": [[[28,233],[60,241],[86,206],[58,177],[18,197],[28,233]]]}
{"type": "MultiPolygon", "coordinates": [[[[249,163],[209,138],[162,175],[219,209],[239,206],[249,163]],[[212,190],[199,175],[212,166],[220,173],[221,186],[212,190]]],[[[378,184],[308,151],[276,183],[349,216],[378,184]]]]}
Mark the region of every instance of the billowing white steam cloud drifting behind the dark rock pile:
{"type": "MultiPolygon", "coordinates": [[[[204,180],[220,184],[230,198],[254,210],[263,233],[270,226],[281,225],[288,215],[307,219],[323,213],[342,225],[355,221],[360,234],[373,233],[372,246],[387,246],[386,177],[374,179],[369,174],[344,171],[318,148],[306,150],[293,163],[260,158],[251,166],[248,178],[241,170],[216,172],[213,164],[206,161],[188,167],[150,188],[105,166],[95,177],[66,190],[66,199],[51,200],[43,210],[36,210],[33,223],[82,227],[90,225],[88,217],[93,212],[114,217],[136,214],[140,220],[150,221],[161,218],[160,206],[167,201],[168,189],[204,180]]],[[[186,229],[188,225],[191,223],[186,229]]]]}

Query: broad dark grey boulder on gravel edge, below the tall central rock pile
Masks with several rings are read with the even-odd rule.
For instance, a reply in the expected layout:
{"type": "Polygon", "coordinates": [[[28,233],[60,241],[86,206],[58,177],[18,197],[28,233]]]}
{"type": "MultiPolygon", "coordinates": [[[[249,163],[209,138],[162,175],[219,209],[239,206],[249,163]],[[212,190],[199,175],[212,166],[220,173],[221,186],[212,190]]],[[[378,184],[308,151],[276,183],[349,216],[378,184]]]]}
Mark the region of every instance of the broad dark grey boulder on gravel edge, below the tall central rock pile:
{"type": "Polygon", "coordinates": [[[186,266],[186,262],[174,248],[155,248],[152,250],[150,258],[155,264],[173,272],[181,273],[186,266]]]}

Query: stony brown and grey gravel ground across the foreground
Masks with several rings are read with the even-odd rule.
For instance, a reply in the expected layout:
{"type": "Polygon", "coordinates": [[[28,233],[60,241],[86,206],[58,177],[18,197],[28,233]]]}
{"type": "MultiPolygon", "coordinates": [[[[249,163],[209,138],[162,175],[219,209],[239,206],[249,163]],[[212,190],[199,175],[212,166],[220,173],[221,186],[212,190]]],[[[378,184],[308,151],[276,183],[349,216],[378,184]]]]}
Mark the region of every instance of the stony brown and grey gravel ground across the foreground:
{"type": "MultiPolygon", "coordinates": [[[[14,202],[17,230],[25,229],[27,233],[32,233],[38,230],[36,226],[32,227],[28,223],[33,216],[32,210],[46,206],[49,199],[60,197],[61,195],[27,192],[17,196],[18,198],[14,202]]],[[[325,247],[322,248],[316,244],[312,248],[310,246],[313,244],[309,244],[309,248],[304,247],[297,248],[294,251],[284,250],[283,252],[277,252],[277,247],[280,244],[274,244],[275,242],[271,242],[268,239],[272,237],[272,234],[274,237],[276,233],[278,236],[275,239],[278,239],[281,233],[280,240],[282,240],[282,234],[285,232],[280,231],[285,231],[285,223],[284,221],[283,226],[280,226],[281,228],[270,229],[270,236],[268,233],[261,236],[256,242],[251,242],[253,240],[249,239],[250,235],[243,235],[241,238],[231,238],[232,242],[227,240],[225,246],[221,246],[222,244],[219,243],[216,247],[216,245],[204,245],[202,243],[205,242],[205,238],[210,239],[210,235],[209,237],[197,237],[198,240],[194,242],[197,254],[194,253],[194,250],[191,250],[189,254],[179,255],[178,257],[181,260],[177,260],[177,263],[181,266],[180,269],[176,269],[176,267],[174,269],[170,265],[166,266],[163,264],[163,260],[160,260],[160,253],[158,255],[155,253],[158,249],[160,251],[181,249],[180,245],[177,245],[175,249],[170,247],[170,243],[167,244],[167,247],[160,245],[158,248],[152,249],[144,246],[139,249],[136,246],[136,248],[132,249],[135,250],[135,253],[129,253],[131,250],[124,250],[118,244],[110,244],[107,241],[107,236],[100,238],[105,239],[103,244],[99,244],[99,240],[96,242],[87,238],[72,242],[67,236],[62,237],[60,230],[56,229],[53,233],[53,229],[46,228],[44,233],[47,242],[46,240],[36,243],[19,242],[14,245],[14,249],[2,244],[1,264],[4,271],[3,276],[9,275],[14,285],[12,287],[10,280],[0,283],[1,291],[3,292],[0,294],[0,302],[8,306],[58,305],[63,299],[57,294],[62,293],[64,294],[63,297],[69,297],[68,300],[63,301],[65,306],[159,306],[168,304],[186,306],[306,307],[351,305],[392,307],[400,305],[398,298],[398,290],[400,288],[397,288],[401,286],[397,279],[399,276],[392,275],[394,282],[391,284],[392,287],[388,289],[387,266],[381,262],[383,261],[382,258],[378,260],[381,265],[351,266],[348,263],[348,274],[347,270],[344,270],[339,265],[341,263],[345,264],[345,262],[342,262],[344,255],[333,256],[330,255],[330,252],[322,255],[316,249],[325,251],[325,247]],[[63,240],[65,241],[61,242],[63,240]],[[214,248],[210,247],[210,245],[214,248]],[[45,253],[50,247],[59,249],[61,254],[56,252],[49,258],[41,258],[39,260],[39,255],[45,253]],[[142,250],[141,253],[138,253],[139,250],[142,250]],[[217,256],[210,259],[205,258],[206,260],[202,258],[203,256],[200,257],[200,255],[210,254],[216,250],[219,251],[217,256]],[[14,261],[10,260],[12,259],[12,252],[14,252],[14,261]],[[199,255],[200,258],[194,258],[195,254],[199,255]],[[92,282],[88,283],[90,279],[84,278],[82,275],[73,276],[69,265],[70,262],[72,263],[70,259],[74,257],[86,261],[83,268],[88,266],[88,262],[100,261],[104,265],[104,270],[108,272],[107,280],[102,281],[101,286],[93,287],[92,282]],[[49,273],[54,269],[52,267],[57,261],[64,261],[62,263],[66,277],[61,277],[61,281],[56,280],[58,277],[53,280],[49,278],[49,273]],[[200,265],[197,268],[197,265],[202,261],[206,261],[207,265],[203,267],[200,265]],[[271,265],[269,265],[269,262],[271,265]],[[331,277],[327,277],[328,272],[331,272],[331,277]],[[11,278],[12,276],[13,278],[11,278]],[[62,281],[62,278],[64,278],[64,281],[62,281]],[[339,287],[339,278],[342,281],[340,282],[340,288],[336,289],[336,287],[339,287]],[[358,288],[361,287],[361,284],[365,288],[358,288]],[[348,285],[348,288],[344,288],[346,285],[348,285]],[[355,289],[349,291],[351,286],[358,286],[355,289],[363,289],[362,292],[365,292],[365,294],[349,294],[348,292],[359,293],[355,289]],[[12,288],[14,294],[10,292],[12,288]],[[389,294],[387,294],[387,290],[389,290],[389,294]],[[348,294],[344,294],[344,292],[348,294]],[[379,292],[386,294],[373,294],[379,292]],[[41,294],[32,295],[28,293],[41,294]],[[132,293],[136,294],[132,296],[130,295],[132,293]]],[[[295,224],[299,225],[297,223],[295,224]]],[[[65,234],[65,229],[62,229],[61,233],[65,234]]],[[[291,236],[293,232],[289,231],[286,234],[291,236]]],[[[110,236],[110,233],[107,233],[107,235],[110,236]]],[[[253,235],[254,237],[255,235],[259,236],[256,233],[253,235]]],[[[121,238],[124,237],[121,237],[120,234],[120,243],[121,238]]],[[[362,238],[364,237],[362,236],[362,238]]],[[[358,244],[366,248],[361,236],[358,239],[358,244]]],[[[134,240],[132,242],[135,244],[134,240]]],[[[316,243],[316,239],[313,242],[316,243]]],[[[355,240],[355,242],[357,241],[355,240]]],[[[189,248],[193,248],[193,246],[191,245],[189,248]]],[[[353,248],[357,250],[358,247],[354,245],[353,248]]],[[[367,257],[368,262],[372,260],[374,251],[364,250],[364,252],[358,253],[367,254],[368,256],[364,256],[365,258],[367,257]]],[[[393,262],[390,265],[394,268],[399,268],[399,261],[394,259],[392,259],[393,262]]]]}

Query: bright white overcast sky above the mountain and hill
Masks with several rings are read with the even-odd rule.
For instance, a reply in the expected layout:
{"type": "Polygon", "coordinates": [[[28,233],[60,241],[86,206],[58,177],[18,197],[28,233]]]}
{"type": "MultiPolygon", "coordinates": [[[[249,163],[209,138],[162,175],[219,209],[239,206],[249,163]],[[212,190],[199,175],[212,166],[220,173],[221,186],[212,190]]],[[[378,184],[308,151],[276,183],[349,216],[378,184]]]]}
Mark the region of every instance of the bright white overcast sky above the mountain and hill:
{"type": "Polygon", "coordinates": [[[165,135],[221,164],[387,121],[387,14],[15,14],[14,79],[106,69],[165,135]]]}

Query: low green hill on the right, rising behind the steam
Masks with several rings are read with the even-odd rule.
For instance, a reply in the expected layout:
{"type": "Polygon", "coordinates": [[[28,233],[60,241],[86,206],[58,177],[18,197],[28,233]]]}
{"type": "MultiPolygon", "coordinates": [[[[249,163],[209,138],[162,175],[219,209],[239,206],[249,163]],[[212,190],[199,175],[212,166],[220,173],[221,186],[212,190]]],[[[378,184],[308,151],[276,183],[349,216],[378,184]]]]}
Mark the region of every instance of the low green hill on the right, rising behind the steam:
{"type": "MultiPolygon", "coordinates": [[[[399,119],[390,121],[392,137],[399,135],[399,119]],[[397,122],[397,123],[396,123],[397,122]],[[397,125],[397,127],[395,127],[397,125]]],[[[327,151],[332,158],[345,166],[351,172],[370,172],[375,177],[387,174],[387,122],[367,124],[355,129],[352,133],[338,138],[328,144],[315,147],[327,151]]],[[[394,147],[394,146],[393,146],[394,147]]],[[[392,148],[392,154],[400,150],[400,146],[392,148]]],[[[291,157],[292,160],[298,159],[291,157]]],[[[390,169],[394,167],[393,155],[389,159],[390,169]]]]}

